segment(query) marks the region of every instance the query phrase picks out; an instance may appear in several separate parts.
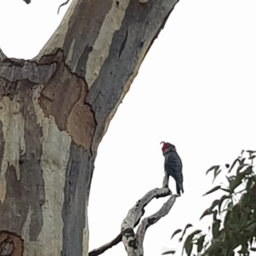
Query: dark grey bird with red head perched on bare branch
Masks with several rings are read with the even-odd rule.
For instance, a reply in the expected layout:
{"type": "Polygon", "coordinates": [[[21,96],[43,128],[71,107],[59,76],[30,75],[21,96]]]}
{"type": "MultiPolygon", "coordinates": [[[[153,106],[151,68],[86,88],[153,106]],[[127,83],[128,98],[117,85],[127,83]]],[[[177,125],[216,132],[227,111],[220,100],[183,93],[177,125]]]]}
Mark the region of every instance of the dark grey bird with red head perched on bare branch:
{"type": "Polygon", "coordinates": [[[180,191],[184,193],[182,161],[174,145],[164,141],[162,141],[160,144],[163,144],[162,151],[164,155],[164,172],[166,172],[168,176],[173,177],[176,182],[177,194],[180,195],[180,191]]]}

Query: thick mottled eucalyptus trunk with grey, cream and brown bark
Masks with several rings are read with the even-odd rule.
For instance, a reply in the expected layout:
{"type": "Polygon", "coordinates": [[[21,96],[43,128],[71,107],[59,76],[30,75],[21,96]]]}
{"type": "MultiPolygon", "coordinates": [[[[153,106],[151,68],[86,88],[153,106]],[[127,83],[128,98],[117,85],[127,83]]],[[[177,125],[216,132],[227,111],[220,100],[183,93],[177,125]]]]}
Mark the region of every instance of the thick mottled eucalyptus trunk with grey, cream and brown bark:
{"type": "Polygon", "coordinates": [[[97,148],[177,1],[73,0],[36,58],[0,50],[0,256],[88,254],[97,148]]]}

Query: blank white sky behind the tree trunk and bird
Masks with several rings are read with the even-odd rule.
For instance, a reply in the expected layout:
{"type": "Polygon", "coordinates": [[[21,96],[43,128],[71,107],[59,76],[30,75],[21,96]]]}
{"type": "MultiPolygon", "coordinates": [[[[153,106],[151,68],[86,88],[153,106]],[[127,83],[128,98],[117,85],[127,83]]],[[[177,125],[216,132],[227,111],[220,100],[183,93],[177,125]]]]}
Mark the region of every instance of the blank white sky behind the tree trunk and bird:
{"type": "MultiPolygon", "coordinates": [[[[4,53],[33,58],[60,23],[63,1],[0,0],[4,53]]],[[[90,250],[113,239],[136,201],[161,186],[162,140],[176,145],[182,158],[185,193],[148,229],[145,255],[176,248],[170,236],[187,223],[207,227],[198,219],[215,196],[202,198],[212,188],[205,171],[230,163],[241,149],[255,149],[255,13],[255,0],[177,4],[100,144],[90,194],[90,250]]],[[[175,191],[173,181],[170,186],[175,191]]],[[[166,199],[148,205],[145,216],[166,199]]],[[[123,244],[104,253],[125,254],[123,244]]]]}

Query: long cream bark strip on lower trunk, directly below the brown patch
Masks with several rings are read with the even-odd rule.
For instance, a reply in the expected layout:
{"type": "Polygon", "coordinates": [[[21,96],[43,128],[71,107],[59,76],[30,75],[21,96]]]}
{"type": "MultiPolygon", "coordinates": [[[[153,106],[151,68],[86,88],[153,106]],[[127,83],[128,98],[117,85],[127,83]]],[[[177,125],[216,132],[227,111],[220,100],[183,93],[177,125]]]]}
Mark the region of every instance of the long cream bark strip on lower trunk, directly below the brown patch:
{"type": "MultiPolygon", "coordinates": [[[[53,116],[45,118],[44,112],[38,104],[38,98],[43,87],[37,86],[34,89],[33,105],[36,123],[42,127],[42,157],[40,165],[45,188],[45,203],[42,205],[44,225],[36,238],[36,242],[29,241],[28,234],[26,234],[26,255],[60,255],[62,248],[61,230],[63,221],[61,219],[61,210],[64,202],[63,188],[65,186],[65,170],[70,154],[71,138],[67,132],[58,129],[53,116]]],[[[33,216],[31,216],[31,221],[32,219],[33,216]]]]}

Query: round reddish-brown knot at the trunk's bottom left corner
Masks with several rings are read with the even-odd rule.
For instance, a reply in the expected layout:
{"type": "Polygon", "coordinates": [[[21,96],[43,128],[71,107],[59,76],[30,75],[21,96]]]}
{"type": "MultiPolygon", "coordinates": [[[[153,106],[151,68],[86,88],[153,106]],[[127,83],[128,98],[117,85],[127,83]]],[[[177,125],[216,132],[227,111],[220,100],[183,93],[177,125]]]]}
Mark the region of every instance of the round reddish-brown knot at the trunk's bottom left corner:
{"type": "Polygon", "coordinates": [[[6,230],[0,231],[0,256],[22,256],[24,241],[20,236],[6,230]]]}

